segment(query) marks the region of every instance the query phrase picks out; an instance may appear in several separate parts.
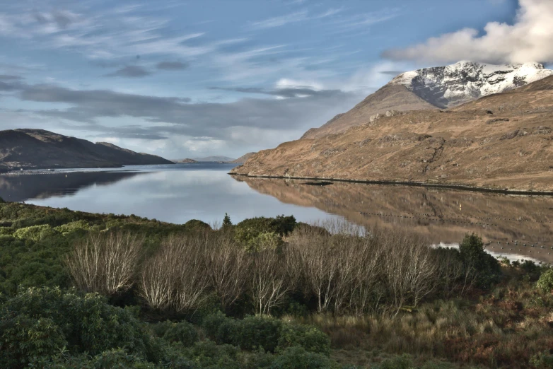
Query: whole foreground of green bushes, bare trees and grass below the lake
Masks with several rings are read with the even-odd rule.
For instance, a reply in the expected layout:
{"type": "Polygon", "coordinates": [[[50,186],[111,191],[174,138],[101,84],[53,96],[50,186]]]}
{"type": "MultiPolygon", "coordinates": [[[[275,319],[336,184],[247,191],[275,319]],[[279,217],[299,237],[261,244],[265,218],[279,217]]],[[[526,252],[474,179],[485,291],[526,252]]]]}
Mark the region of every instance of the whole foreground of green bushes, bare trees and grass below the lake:
{"type": "Polygon", "coordinates": [[[0,203],[1,368],[552,368],[553,269],[293,216],[0,203]]]}

